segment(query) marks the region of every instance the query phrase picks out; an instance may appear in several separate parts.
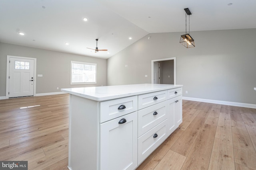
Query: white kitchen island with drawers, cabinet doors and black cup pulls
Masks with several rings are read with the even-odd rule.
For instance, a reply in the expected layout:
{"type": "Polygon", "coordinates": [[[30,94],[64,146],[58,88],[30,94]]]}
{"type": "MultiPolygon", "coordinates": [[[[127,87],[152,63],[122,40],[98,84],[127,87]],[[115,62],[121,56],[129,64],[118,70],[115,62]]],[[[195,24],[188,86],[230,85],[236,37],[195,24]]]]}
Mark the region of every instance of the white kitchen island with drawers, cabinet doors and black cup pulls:
{"type": "Polygon", "coordinates": [[[134,170],[182,123],[182,85],[61,91],[70,94],[70,170],[134,170]]]}

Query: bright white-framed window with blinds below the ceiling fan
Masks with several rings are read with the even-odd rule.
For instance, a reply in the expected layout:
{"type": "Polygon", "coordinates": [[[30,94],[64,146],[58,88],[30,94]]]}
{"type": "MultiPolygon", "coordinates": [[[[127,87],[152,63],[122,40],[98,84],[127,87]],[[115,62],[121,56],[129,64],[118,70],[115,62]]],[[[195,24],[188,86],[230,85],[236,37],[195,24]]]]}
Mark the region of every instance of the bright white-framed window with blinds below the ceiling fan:
{"type": "Polygon", "coordinates": [[[96,84],[97,64],[71,61],[71,84],[96,84]]]}

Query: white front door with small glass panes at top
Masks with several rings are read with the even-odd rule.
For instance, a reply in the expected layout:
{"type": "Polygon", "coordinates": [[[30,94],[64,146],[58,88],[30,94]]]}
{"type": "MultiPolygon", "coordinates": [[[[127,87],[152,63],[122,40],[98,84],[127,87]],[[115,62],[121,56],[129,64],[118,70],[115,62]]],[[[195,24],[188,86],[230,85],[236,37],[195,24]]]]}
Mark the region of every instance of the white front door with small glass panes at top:
{"type": "Polygon", "coordinates": [[[34,60],[10,57],[9,98],[34,96],[34,60]]]}

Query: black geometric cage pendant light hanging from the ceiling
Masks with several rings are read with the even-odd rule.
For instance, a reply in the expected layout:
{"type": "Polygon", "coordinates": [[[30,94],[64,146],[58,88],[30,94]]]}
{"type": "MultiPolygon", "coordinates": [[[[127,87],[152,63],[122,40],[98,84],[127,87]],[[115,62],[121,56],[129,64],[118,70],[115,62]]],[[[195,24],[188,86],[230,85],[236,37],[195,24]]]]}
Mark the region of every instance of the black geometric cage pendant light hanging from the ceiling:
{"type": "Polygon", "coordinates": [[[186,48],[195,47],[194,39],[189,35],[190,33],[190,15],[191,12],[188,8],[184,9],[186,12],[186,34],[180,35],[180,43],[184,45],[186,48]],[[188,15],[188,33],[187,33],[187,15],[188,15]]]}

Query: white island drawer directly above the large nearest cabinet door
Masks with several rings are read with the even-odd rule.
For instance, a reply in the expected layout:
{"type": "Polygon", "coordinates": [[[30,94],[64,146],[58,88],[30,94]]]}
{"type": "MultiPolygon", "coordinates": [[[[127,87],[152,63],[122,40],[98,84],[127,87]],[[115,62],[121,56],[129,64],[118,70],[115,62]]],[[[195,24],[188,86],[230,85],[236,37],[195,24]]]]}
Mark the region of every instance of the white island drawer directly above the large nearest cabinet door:
{"type": "Polygon", "coordinates": [[[100,123],[138,110],[138,96],[100,102],[100,123]]]}

